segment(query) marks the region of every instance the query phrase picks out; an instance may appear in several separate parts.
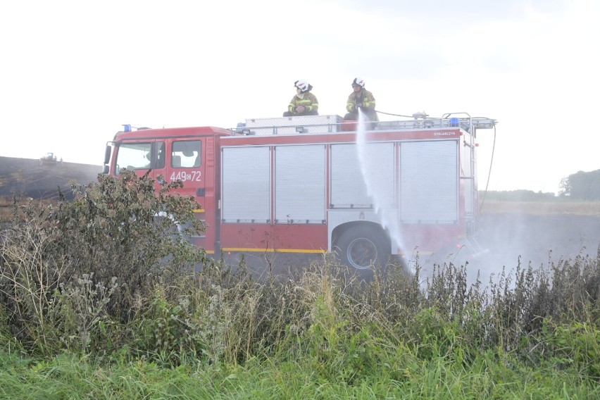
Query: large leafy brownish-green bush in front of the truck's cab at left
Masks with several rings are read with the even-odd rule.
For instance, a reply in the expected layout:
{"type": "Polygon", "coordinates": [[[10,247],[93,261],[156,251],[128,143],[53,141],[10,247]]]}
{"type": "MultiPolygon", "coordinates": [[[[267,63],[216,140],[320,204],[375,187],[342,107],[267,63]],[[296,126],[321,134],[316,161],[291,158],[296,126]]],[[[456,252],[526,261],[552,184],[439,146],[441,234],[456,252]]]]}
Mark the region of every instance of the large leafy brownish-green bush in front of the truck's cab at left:
{"type": "Polygon", "coordinates": [[[159,280],[168,286],[204,260],[182,240],[203,229],[199,205],[171,193],[181,182],[159,182],[99,175],[74,184],[73,201],[15,206],[0,247],[0,304],[12,335],[45,351],[77,337],[85,349],[102,320],[132,318],[136,299],[159,280]]]}

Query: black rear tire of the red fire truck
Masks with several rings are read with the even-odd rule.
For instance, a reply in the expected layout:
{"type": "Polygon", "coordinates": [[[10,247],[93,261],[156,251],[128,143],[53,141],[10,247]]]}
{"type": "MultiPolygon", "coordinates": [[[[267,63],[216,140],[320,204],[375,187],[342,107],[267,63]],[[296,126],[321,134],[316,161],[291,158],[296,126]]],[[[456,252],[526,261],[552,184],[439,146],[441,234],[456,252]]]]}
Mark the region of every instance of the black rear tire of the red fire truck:
{"type": "Polygon", "coordinates": [[[389,240],[375,227],[353,227],[337,241],[342,263],[358,272],[372,271],[373,266],[385,267],[389,260],[389,240]]]}

